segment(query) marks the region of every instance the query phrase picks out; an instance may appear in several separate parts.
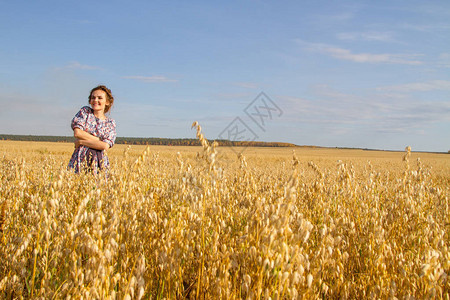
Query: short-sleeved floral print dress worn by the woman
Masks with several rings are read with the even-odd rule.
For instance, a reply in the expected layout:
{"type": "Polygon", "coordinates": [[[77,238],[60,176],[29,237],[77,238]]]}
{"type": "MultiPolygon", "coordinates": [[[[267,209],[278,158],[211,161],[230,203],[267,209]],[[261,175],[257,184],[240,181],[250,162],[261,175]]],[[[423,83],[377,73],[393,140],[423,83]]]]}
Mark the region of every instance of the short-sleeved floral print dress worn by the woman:
{"type": "MultiPolygon", "coordinates": [[[[108,143],[109,147],[114,145],[116,140],[116,122],[111,118],[101,120],[94,115],[94,111],[89,106],[84,106],[72,119],[72,130],[80,128],[93,136],[100,138],[102,142],[108,143]]],[[[89,147],[80,146],[72,154],[72,158],[69,162],[69,169],[74,169],[75,173],[80,172],[82,166],[86,164],[86,155],[89,151],[92,151],[89,147]]],[[[102,166],[98,166],[99,169],[108,170],[109,160],[105,151],[101,151],[102,166]]]]}

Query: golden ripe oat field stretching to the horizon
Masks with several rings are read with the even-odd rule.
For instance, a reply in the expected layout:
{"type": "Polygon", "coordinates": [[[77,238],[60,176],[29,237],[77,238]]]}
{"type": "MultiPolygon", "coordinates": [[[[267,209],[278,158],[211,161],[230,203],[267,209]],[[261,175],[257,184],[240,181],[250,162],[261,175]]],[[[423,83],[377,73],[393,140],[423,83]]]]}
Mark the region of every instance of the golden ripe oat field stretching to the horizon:
{"type": "Polygon", "coordinates": [[[114,146],[109,178],[66,171],[71,144],[0,141],[0,298],[450,298],[449,154],[198,133],[114,146]]]}

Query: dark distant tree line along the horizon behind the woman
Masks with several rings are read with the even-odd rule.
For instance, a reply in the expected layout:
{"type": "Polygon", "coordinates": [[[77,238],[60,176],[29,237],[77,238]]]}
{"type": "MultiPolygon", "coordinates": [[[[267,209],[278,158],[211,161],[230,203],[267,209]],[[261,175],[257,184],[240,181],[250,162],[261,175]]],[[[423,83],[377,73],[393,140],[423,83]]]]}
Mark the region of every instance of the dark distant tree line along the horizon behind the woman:
{"type": "MultiPolygon", "coordinates": [[[[74,141],[71,136],[51,136],[51,135],[14,135],[0,134],[0,140],[10,141],[33,141],[33,142],[63,142],[74,141]]],[[[256,141],[229,141],[216,140],[219,146],[245,146],[245,147],[295,147],[291,143],[280,142],[256,142],[256,141]]],[[[116,144],[127,145],[167,145],[167,146],[200,146],[197,139],[168,139],[168,138],[138,138],[138,137],[117,137],[116,144]]]]}

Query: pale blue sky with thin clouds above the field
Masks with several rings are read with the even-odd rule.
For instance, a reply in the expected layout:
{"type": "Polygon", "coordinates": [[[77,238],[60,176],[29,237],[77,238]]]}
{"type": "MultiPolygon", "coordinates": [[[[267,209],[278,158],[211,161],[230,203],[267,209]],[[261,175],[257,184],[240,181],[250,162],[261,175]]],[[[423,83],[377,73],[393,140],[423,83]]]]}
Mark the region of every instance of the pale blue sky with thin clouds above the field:
{"type": "Polygon", "coordinates": [[[449,1],[0,0],[0,40],[0,133],[71,135],[105,84],[119,136],[450,150],[449,1]]]}

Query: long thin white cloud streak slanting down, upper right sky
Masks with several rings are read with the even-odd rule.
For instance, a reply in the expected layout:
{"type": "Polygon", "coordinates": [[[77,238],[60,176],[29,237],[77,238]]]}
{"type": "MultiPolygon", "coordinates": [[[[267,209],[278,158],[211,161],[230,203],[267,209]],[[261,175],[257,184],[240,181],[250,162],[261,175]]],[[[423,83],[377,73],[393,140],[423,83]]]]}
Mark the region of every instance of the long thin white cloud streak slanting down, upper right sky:
{"type": "Polygon", "coordinates": [[[406,65],[420,65],[423,62],[415,59],[418,54],[372,54],[372,53],[353,53],[344,48],[339,48],[321,43],[309,43],[297,39],[297,43],[310,51],[330,55],[331,57],[349,60],[357,63],[387,63],[387,64],[406,64],[406,65]]]}

